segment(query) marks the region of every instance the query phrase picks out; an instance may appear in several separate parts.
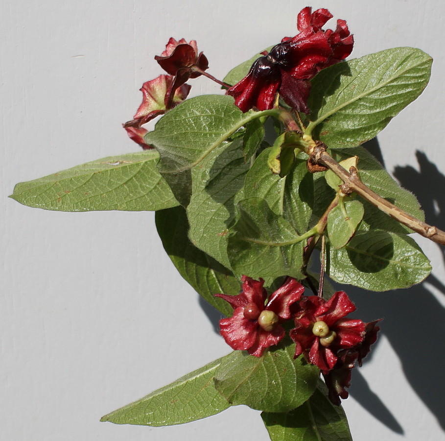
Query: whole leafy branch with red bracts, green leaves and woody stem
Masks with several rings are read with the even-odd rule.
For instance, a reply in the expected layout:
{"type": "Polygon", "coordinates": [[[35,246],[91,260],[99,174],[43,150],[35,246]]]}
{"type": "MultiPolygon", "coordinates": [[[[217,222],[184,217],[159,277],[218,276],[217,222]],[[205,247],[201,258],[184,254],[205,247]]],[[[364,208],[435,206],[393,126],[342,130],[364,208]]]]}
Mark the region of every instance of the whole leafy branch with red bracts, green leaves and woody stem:
{"type": "Polygon", "coordinates": [[[408,288],[431,271],[408,234],[444,245],[445,233],[361,147],[422,93],[431,58],[396,48],[345,61],[354,39],[344,20],[325,30],[331,18],[304,8],[297,35],[223,80],[194,40],[170,38],[155,57],[166,74],[142,85],[123,124],[143,151],[17,184],[11,197],[31,207],[156,211],[172,262],[226,316],[232,353],[103,421],[180,424],[245,404],[272,440],[351,440],[341,399],[380,320],[350,318],[325,275],[408,288]],[[223,93],[187,99],[198,76],[223,93]]]}

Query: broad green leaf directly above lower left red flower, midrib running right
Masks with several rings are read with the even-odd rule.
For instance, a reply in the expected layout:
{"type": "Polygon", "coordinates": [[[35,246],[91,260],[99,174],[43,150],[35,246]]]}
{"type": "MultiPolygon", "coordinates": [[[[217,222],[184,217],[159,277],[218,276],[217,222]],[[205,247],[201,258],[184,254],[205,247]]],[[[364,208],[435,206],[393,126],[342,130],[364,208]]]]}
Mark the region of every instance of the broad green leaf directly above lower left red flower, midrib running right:
{"type": "Polygon", "coordinates": [[[235,274],[263,279],[290,275],[301,279],[304,240],[292,225],[260,197],[240,201],[238,211],[228,239],[235,274]]]}

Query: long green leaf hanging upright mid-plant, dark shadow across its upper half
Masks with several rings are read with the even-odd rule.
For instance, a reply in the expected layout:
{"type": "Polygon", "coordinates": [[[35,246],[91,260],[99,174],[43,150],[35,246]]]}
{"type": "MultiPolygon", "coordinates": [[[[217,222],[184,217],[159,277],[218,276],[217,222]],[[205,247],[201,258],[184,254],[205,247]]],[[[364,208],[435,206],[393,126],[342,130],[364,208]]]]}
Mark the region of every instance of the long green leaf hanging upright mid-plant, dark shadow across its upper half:
{"type": "Polygon", "coordinates": [[[250,167],[241,145],[242,139],[224,143],[192,170],[193,193],[187,207],[192,243],[228,268],[227,233],[235,215],[234,198],[250,167]]]}

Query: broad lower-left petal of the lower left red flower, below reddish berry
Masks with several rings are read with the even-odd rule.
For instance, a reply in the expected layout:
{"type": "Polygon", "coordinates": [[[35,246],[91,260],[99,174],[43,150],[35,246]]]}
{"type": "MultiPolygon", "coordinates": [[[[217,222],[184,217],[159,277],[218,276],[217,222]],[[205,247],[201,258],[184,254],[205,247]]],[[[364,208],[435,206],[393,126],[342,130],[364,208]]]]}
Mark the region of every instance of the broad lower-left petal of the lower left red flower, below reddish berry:
{"type": "Polygon", "coordinates": [[[230,319],[219,321],[220,334],[226,343],[235,350],[246,350],[252,347],[259,328],[257,320],[244,318],[244,308],[236,308],[230,319]]]}

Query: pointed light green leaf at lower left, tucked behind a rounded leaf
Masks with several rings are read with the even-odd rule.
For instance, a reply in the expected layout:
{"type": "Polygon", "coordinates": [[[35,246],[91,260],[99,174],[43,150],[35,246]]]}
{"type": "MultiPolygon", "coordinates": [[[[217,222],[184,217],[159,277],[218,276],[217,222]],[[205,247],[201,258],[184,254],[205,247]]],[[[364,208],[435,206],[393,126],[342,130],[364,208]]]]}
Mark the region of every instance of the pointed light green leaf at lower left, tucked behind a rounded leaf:
{"type": "Polygon", "coordinates": [[[213,376],[223,358],[105,415],[115,424],[171,426],[219,414],[230,404],[215,389],[213,376]]]}

